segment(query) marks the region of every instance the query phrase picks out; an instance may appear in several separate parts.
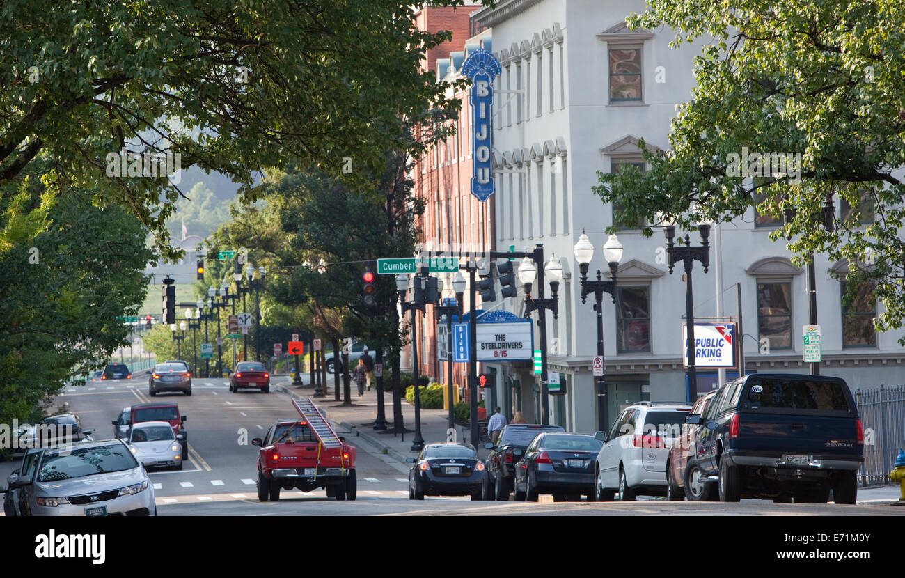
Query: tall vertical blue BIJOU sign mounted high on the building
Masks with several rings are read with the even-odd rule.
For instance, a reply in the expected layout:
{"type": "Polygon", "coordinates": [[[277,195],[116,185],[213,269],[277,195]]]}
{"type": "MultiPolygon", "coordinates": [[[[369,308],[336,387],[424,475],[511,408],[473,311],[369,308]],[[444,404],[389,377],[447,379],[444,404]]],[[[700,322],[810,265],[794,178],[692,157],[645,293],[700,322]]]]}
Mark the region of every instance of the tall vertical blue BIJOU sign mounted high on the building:
{"type": "Polygon", "coordinates": [[[462,63],[462,74],[472,79],[472,195],[486,201],[493,194],[493,79],[500,61],[479,48],[462,63]]]}

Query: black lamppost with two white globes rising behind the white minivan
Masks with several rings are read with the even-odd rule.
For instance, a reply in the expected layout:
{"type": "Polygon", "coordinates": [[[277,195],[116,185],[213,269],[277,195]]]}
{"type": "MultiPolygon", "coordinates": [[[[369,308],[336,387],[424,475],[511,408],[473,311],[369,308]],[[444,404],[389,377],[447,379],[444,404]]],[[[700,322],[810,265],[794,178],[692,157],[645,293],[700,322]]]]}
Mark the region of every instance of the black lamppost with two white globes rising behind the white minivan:
{"type": "MultiPolygon", "coordinates": [[[[575,245],[575,258],[581,271],[581,303],[586,303],[587,294],[594,294],[594,310],[597,312],[597,355],[604,357],[604,294],[613,297],[616,302],[616,272],[619,262],[622,260],[623,246],[615,235],[609,236],[604,245],[604,259],[610,266],[610,278],[607,281],[601,279],[600,269],[597,269],[596,281],[588,280],[587,269],[594,256],[594,246],[588,240],[584,232],[578,237],[575,245]]],[[[605,366],[604,366],[605,367],[605,366]]],[[[601,368],[603,370],[603,367],[601,368]]],[[[608,408],[606,403],[606,377],[605,371],[597,377],[597,429],[607,431],[608,408]]]]}

